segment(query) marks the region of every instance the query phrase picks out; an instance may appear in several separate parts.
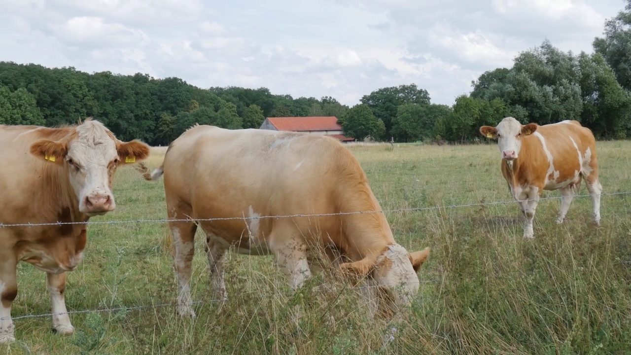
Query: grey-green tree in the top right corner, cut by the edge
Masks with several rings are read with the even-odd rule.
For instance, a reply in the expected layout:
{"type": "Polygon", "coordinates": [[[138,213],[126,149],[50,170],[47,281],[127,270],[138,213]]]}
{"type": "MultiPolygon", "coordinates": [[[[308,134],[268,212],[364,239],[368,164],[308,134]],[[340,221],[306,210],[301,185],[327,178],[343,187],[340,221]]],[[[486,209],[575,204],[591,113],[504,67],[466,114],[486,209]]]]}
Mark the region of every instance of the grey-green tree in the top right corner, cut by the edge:
{"type": "Polygon", "coordinates": [[[594,51],[611,66],[618,83],[631,90],[631,0],[615,18],[605,21],[603,34],[594,39],[594,51]]]}

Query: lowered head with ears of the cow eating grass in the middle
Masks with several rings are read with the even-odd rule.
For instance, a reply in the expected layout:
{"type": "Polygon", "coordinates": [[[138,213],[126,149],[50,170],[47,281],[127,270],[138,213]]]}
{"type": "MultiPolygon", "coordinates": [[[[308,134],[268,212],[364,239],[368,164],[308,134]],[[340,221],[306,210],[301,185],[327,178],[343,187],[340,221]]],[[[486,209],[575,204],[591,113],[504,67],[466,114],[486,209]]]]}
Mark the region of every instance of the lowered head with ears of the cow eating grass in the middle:
{"type": "Polygon", "coordinates": [[[408,253],[399,244],[391,244],[377,256],[366,256],[358,262],[342,263],[342,270],[352,278],[369,277],[396,306],[408,306],[418,292],[416,272],[430,254],[430,249],[408,253]]]}

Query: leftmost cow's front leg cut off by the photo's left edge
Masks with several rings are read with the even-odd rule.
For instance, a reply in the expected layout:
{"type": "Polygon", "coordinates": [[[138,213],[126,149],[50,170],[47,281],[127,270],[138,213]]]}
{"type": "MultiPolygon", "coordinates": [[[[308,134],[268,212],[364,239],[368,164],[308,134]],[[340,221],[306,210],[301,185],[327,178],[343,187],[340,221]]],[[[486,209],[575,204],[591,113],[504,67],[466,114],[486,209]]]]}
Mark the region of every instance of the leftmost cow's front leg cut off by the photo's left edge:
{"type": "Polygon", "coordinates": [[[18,296],[16,261],[0,255],[0,344],[15,341],[11,303],[18,296]]]}

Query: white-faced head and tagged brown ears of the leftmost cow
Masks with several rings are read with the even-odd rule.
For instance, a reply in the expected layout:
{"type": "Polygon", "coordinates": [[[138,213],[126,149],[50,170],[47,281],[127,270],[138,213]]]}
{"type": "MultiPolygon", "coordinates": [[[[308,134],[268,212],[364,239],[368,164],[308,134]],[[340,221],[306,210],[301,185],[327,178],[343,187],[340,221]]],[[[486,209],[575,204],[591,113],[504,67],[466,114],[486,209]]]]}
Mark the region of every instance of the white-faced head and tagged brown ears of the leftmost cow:
{"type": "Polygon", "coordinates": [[[114,210],[112,183],[116,168],[146,159],[149,146],[137,140],[120,141],[92,119],[68,132],[57,140],[36,141],[31,153],[65,169],[81,213],[93,216],[114,210]]]}

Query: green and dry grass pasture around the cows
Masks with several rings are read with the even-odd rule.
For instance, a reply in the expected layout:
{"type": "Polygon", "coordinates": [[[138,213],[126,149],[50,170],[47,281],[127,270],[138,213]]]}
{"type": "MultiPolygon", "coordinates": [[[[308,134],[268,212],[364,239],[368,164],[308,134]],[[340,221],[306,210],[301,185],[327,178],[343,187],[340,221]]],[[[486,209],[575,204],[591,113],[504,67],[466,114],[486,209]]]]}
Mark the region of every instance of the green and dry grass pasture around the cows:
{"type": "MultiPolygon", "coordinates": [[[[382,208],[512,201],[497,145],[350,147],[382,208]]],[[[148,162],[156,167],[164,149],[148,162]]],[[[631,191],[631,142],[598,143],[604,193],[631,191]]],[[[117,210],[92,222],[164,219],[162,181],[131,167],[114,183],[117,210]]],[[[584,184],[581,195],[586,195],[584,184]]],[[[544,196],[560,196],[546,191],[544,196]]],[[[50,316],[15,320],[8,354],[629,354],[631,353],[631,195],[603,196],[602,223],[589,197],[575,198],[557,225],[560,200],[540,202],[535,238],[522,238],[514,202],[389,212],[394,236],[408,250],[432,248],[422,284],[394,340],[390,326],[367,318],[356,292],[333,298],[289,292],[271,256],[230,256],[229,299],[213,301],[198,231],[192,277],[197,318],[175,315],[177,283],[165,223],[97,224],[88,228],[81,266],[68,277],[76,332],[59,337],[50,316]],[[292,322],[290,306],[304,316],[292,322]],[[333,315],[333,320],[329,319],[333,315]]],[[[237,216],[235,216],[237,217],[237,216]]],[[[45,275],[18,267],[13,316],[50,313],[45,275]]]]}

